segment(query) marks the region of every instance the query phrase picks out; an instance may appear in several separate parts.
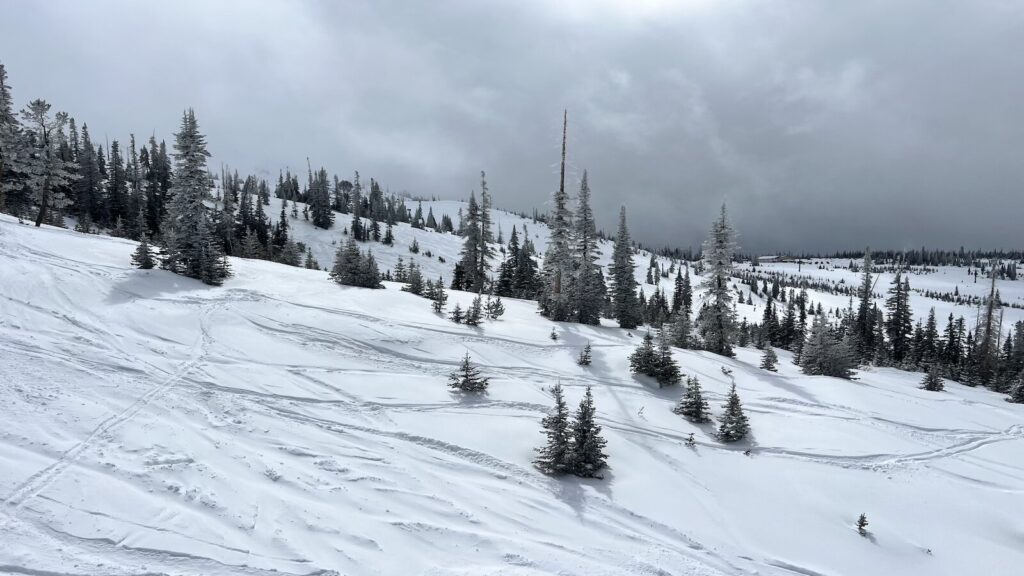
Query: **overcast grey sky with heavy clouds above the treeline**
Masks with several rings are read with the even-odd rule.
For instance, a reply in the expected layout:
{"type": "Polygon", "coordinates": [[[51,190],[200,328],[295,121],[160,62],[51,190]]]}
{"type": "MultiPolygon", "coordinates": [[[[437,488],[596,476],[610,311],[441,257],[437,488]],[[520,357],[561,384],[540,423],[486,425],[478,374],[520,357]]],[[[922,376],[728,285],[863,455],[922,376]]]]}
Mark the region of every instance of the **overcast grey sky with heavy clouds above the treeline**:
{"type": "Polygon", "coordinates": [[[751,250],[1024,245],[1024,2],[0,0],[18,105],[214,166],[359,170],[391,191],[547,209],[751,250]]]}

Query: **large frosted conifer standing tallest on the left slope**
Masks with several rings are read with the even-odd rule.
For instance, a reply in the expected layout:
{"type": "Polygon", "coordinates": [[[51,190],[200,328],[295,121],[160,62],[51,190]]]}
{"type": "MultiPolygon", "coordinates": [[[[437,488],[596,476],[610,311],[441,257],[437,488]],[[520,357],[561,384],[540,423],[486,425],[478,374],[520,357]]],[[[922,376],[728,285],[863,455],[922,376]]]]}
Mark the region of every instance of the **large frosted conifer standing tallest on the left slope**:
{"type": "Polygon", "coordinates": [[[230,271],[223,247],[213,234],[210,208],[205,204],[213,188],[206,166],[209,156],[206,136],[200,133],[196,113],[189,109],[174,136],[171,201],[161,225],[163,266],[206,284],[220,284],[230,271]]]}

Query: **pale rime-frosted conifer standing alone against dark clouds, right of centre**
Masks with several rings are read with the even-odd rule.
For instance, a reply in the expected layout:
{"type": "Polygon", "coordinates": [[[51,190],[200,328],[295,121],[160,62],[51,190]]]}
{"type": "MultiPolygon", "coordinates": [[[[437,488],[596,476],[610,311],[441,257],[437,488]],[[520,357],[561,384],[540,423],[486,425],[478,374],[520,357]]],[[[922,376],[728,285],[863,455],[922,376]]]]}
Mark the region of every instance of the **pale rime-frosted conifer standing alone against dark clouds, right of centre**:
{"type": "Polygon", "coordinates": [[[705,348],[722,356],[732,356],[732,345],[736,341],[736,312],[729,289],[736,249],[736,235],[723,204],[722,213],[712,224],[703,244],[707,273],[701,286],[706,301],[697,316],[697,330],[703,338],[705,348]]]}

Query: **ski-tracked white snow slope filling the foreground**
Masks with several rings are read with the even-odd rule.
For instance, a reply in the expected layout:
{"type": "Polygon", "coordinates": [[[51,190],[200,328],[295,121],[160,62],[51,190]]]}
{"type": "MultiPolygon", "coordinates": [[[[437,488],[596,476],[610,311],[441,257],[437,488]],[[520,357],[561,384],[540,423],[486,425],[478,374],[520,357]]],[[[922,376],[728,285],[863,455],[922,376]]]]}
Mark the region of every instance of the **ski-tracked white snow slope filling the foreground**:
{"type": "Polygon", "coordinates": [[[470,328],[394,284],[254,260],[211,288],[131,269],[133,246],[0,216],[0,573],[1010,575],[1024,562],[1024,407],[986,390],[676,351],[716,413],[732,371],[754,440],[723,446],[671,412],[681,390],[630,375],[635,334],[515,300],[470,328]],[[445,387],[466,351],[493,378],[481,398],[445,387]],[[556,381],[573,405],[594,386],[603,481],[530,465],[556,381]]]}

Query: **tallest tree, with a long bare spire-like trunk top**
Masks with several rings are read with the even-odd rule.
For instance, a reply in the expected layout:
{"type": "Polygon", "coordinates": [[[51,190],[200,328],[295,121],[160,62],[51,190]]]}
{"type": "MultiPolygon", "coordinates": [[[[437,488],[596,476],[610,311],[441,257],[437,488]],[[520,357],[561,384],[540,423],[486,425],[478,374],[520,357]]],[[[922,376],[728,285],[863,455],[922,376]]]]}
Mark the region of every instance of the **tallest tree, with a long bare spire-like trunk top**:
{"type": "Polygon", "coordinates": [[[554,195],[554,208],[548,219],[551,236],[544,255],[543,288],[541,290],[541,315],[555,321],[569,320],[572,315],[570,279],[572,277],[572,214],[569,211],[569,197],[565,192],[565,141],[568,112],[562,123],[562,163],[558,190],[554,195]]]}

